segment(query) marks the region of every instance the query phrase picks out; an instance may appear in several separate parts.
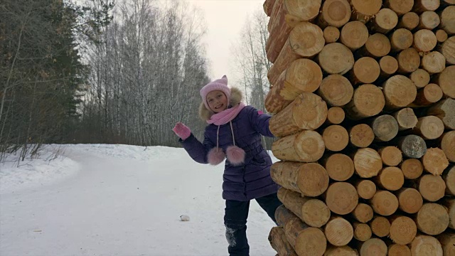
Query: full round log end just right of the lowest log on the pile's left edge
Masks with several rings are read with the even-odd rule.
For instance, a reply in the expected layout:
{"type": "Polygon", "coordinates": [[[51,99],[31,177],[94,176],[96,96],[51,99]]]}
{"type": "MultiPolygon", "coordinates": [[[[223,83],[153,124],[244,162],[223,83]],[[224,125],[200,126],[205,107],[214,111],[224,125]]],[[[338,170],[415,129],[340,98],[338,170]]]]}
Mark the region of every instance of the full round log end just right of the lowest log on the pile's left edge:
{"type": "Polygon", "coordinates": [[[343,246],[348,245],[348,242],[353,239],[354,230],[348,220],[333,216],[324,227],[324,234],[332,245],[343,246]]]}

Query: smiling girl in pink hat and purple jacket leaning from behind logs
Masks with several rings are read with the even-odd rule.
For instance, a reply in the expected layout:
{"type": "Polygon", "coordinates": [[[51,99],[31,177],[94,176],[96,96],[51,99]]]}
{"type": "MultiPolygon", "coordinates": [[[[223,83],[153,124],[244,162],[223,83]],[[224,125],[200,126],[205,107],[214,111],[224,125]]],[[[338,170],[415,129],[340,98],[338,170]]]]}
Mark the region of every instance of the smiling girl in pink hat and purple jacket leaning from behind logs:
{"type": "Polygon", "coordinates": [[[201,164],[220,164],[225,158],[223,199],[226,201],[225,226],[230,255],[249,255],[247,217],[250,200],[256,199],[275,221],[274,213],[282,203],[277,198],[279,186],[270,177],[272,159],[262,148],[261,135],[273,137],[268,114],[245,106],[242,93],[228,88],[228,78],[208,83],[200,90],[199,115],[205,127],[200,143],[186,125],[173,127],[191,158],[201,164]]]}

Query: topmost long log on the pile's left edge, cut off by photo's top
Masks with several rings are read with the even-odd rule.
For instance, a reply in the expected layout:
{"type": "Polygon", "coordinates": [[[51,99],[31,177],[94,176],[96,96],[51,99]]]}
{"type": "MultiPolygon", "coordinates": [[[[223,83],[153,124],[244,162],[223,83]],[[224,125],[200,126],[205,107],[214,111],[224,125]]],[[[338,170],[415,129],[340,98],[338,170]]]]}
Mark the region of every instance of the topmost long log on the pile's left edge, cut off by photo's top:
{"type": "Polygon", "coordinates": [[[321,0],[284,0],[275,17],[267,40],[267,58],[274,63],[291,30],[302,21],[311,21],[319,14],[321,0]]]}

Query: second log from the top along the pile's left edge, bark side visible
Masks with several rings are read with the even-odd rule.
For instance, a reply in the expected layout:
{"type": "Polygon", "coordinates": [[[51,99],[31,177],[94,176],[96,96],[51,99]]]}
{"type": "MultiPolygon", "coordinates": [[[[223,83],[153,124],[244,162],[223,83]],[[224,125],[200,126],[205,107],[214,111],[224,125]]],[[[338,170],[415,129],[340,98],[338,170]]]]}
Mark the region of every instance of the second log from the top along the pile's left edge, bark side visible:
{"type": "Polygon", "coordinates": [[[301,22],[292,28],[274,65],[270,67],[267,78],[272,85],[277,84],[279,75],[296,59],[311,58],[324,46],[322,29],[309,22],[301,22]]]}

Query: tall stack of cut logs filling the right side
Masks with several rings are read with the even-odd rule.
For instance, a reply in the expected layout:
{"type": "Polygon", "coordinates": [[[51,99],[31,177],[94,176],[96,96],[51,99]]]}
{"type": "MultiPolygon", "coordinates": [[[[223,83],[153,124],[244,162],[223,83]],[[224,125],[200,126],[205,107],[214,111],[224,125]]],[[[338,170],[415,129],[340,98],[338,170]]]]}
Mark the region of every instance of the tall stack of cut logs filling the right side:
{"type": "Polygon", "coordinates": [[[266,0],[278,255],[455,255],[455,0],[266,0]]]}

